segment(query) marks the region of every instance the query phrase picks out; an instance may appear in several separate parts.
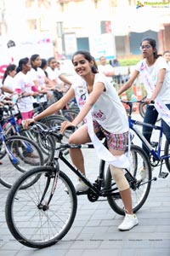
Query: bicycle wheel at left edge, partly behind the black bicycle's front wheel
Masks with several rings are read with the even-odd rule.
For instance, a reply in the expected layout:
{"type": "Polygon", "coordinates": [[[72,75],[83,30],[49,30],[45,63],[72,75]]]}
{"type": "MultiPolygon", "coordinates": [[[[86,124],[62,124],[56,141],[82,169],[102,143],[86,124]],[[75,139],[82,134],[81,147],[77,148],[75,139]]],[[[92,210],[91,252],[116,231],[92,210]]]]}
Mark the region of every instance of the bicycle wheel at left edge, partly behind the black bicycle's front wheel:
{"type": "Polygon", "coordinates": [[[43,166],[43,157],[38,145],[27,137],[11,136],[6,138],[5,144],[9,153],[3,157],[4,165],[0,168],[0,183],[10,189],[23,172],[27,172],[34,166],[43,166]],[[27,154],[27,149],[29,154],[32,153],[37,158],[31,158],[31,155],[27,154]]]}

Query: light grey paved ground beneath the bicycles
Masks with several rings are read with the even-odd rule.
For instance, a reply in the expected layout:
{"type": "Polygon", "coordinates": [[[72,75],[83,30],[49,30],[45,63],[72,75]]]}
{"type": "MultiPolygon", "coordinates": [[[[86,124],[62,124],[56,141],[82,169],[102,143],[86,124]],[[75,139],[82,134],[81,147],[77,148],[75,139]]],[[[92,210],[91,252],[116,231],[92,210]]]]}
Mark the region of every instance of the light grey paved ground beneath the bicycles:
{"type": "MultiPolygon", "coordinates": [[[[99,160],[94,149],[84,151],[87,176],[98,175],[99,160]]],[[[4,166],[0,166],[3,168],[4,166]]],[[[61,168],[65,170],[65,167],[61,168]]],[[[163,166],[163,171],[167,171],[163,166]]],[[[65,172],[67,172],[65,170],[65,172]]],[[[73,183],[77,177],[67,172],[73,183]]],[[[158,177],[155,168],[153,176],[158,177]]],[[[152,183],[150,195],[139,210],[139,225],[120,232],[122,216],[111,210],[107,201],[89,202],[86,195],[78,197],[77,217],[62,241],[52,247],[35,250],[24,247],[10,234],[5,222],[4,207],[8,189],[0,185],[0,255],[10,256],[169,256],[170,255],[170,175],[152,183]]]]}

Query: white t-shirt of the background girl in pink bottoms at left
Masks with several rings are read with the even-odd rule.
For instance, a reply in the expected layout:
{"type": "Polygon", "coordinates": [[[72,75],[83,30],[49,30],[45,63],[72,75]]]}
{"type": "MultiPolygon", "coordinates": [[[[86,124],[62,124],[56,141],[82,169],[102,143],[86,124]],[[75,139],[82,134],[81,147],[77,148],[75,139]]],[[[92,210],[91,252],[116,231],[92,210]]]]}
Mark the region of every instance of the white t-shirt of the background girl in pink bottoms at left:
{"type": "MultiPolygon", "coordinates": [[[[19,72],[14,76],[14,90],[20,89],[21,92],[31,92],[31,86],[33,85],[34,84],[31,77],[28,74],[19,72]]],[[[20,102],[18,102],[18,107],[21,113],[29,112],[33,109],[32,100],[32,96],[27,96],[20,99],[20,102]]]]}

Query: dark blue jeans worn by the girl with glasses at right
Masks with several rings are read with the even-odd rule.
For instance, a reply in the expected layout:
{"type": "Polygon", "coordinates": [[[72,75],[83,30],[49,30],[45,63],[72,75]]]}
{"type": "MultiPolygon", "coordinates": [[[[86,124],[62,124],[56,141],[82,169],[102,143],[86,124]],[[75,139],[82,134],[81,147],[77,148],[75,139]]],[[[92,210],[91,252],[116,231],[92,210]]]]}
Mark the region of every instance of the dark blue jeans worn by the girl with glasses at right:
{"type": "MultiPolygon", "coordinates": [[[[170,109],[170,104],[166,104],[167,108],[170,109]]],[[[155,125],[156,124],[156,119],[158,117],[158,112],[156,108],[152,105],[147,105],[146,106],[146,112],[144,114],[144,123],[148,123],[150,125],[155,125]]],[[[170,126],[167,125],[167,123],[161,119],[161,124],[163,127],[163,133],[165,134],[167,138],[167,142],[170,143],[170,126]]],[[[146,138],[146,140],[150,143],[150,137],[152,134],[153,129],[150,127],[143,126],[143,135],[146,138]]],[[[142,146],[146,154],[150,154],[147,148],[144,147],[144,144],[142,146]]]]}

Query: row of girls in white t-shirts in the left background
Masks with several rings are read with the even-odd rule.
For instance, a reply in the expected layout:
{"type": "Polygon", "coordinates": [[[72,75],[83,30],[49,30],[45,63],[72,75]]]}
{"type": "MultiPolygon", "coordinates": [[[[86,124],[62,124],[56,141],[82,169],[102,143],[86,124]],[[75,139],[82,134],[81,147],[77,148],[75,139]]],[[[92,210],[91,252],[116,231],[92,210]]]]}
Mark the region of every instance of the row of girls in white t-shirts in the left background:
{"type": "Polygon", "coordinates": [[[46,61],[35,54],[31,55],[30,59],[20,59],[18,66],[9,64],[3,75],[1,87],[8,99],[15,95],[23,96],[18,102],[18,107],[22,118],[27,119],[32,117],[33,108],[40,102],[47,108],[63,96],[65,84],[71,86],[71,81],[59,72],[59,62],[54,57],[46,61]]]}

